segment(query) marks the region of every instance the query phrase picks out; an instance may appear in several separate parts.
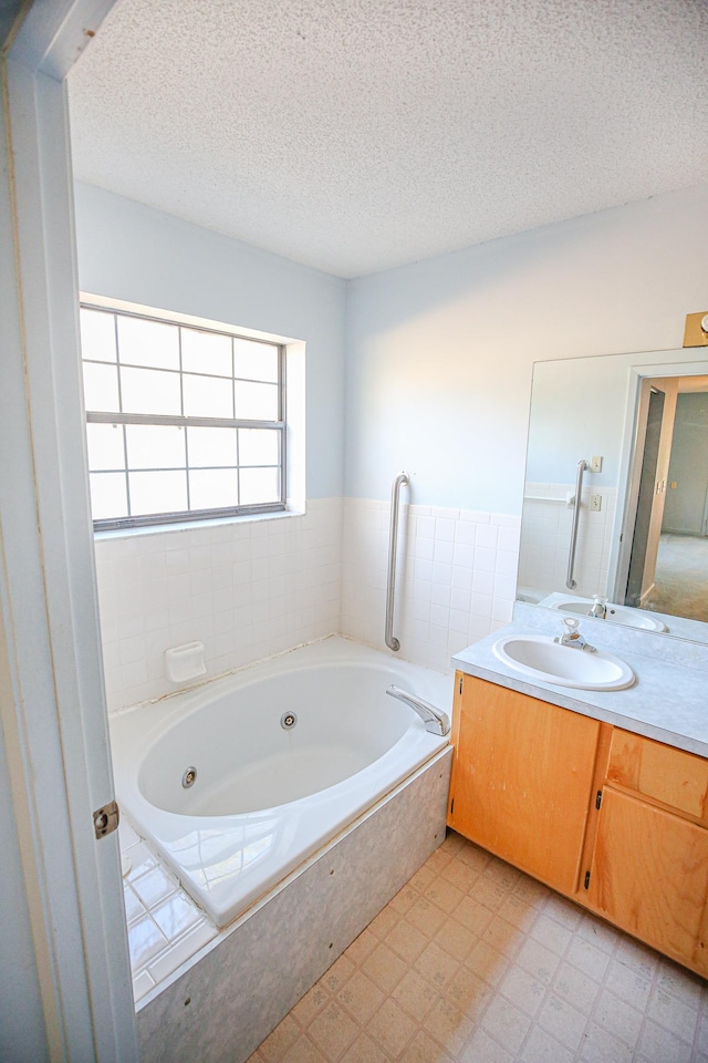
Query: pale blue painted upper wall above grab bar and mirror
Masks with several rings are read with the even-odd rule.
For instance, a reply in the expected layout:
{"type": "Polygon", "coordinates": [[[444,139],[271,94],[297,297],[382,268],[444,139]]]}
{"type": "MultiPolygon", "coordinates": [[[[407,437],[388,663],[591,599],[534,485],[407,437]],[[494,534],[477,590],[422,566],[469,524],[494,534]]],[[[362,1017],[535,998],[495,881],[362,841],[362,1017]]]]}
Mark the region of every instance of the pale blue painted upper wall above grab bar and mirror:
{"type": "Polygon", "coordinates": [[[352,281],[346,494],[520,513],[533,362],[680,347],[706,233],[701,186],[352,281]]]}

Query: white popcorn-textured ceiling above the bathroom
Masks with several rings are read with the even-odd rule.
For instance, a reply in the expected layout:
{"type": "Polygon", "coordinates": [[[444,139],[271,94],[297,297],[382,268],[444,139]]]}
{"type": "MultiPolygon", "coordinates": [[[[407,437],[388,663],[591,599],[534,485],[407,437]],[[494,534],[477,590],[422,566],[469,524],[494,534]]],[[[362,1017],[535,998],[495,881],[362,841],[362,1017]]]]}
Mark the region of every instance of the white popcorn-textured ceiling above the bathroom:
{"type": "Polygon", "coordinates": [[[80,179],[342,277],[708,180],[708,0],[121,0],[80,179]]]}

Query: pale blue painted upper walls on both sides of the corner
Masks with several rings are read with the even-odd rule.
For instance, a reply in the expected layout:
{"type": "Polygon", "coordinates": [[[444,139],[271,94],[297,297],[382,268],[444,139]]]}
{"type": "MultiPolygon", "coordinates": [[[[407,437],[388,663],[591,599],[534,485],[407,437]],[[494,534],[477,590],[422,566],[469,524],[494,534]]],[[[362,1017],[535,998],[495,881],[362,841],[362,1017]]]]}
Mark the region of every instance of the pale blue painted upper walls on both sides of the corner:
{"type": "Polygon", "coordinates": [[[91,186],[84,290],[308,343],[308,495],[520,513],[534,361],[680,347],[708,186],[344,281],[91,186]],[[346,380],[344,371],[346,367],[346,380]]]}

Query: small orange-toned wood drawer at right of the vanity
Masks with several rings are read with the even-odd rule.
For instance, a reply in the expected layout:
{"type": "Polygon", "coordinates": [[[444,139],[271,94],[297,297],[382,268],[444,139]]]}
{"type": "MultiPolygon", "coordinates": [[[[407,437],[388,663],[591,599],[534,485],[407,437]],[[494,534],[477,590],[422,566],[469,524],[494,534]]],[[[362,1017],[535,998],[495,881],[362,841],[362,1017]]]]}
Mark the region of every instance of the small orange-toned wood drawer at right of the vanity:
{"type": "Polygon", "coordinates": [[[708,821],[708,761],[615,727],[607,780],[708,821]]]}

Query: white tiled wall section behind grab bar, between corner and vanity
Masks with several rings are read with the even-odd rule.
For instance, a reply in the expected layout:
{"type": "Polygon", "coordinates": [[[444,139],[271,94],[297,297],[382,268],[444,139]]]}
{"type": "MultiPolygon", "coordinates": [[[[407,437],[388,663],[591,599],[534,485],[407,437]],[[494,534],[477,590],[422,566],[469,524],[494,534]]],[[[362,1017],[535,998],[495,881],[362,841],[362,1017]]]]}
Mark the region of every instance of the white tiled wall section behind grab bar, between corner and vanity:
{"type": "MultiPolygon", "coordinates": [[[[511,620],[520,518],[402,506],[395,634],[399,656],[447,670],[450,657],[511,620]]],[[[389,503],[345,498],[342,633],[383,648],[389,503]]]]}

